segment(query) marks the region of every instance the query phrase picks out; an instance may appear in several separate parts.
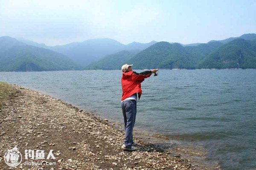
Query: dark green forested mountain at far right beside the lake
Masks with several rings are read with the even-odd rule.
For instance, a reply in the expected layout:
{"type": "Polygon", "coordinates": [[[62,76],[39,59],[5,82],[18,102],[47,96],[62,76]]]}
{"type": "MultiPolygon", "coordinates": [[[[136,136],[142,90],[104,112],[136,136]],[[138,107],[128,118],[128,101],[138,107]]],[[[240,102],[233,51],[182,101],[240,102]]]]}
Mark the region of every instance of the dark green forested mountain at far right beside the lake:
{"type": "Polygon", "coordinates": [[[256,68],[256,40],[234,39],[207,55],[198,68],[256,68]]]}

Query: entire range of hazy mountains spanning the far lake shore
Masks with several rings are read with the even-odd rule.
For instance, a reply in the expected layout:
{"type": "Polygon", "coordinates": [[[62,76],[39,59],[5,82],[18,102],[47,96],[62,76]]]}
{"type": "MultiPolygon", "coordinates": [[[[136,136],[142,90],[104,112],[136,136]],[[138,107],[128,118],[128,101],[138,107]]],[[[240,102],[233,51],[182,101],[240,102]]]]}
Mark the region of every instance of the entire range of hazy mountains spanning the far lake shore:
{"type": "Polygon", "coordinates": [[[50,47],[20,40],[0,37],[0,71],[110,70],[125,63],[135,69],[256,68],[256,34],[188,45],[155,41],[124,45],[103,38],[50,47]]]}

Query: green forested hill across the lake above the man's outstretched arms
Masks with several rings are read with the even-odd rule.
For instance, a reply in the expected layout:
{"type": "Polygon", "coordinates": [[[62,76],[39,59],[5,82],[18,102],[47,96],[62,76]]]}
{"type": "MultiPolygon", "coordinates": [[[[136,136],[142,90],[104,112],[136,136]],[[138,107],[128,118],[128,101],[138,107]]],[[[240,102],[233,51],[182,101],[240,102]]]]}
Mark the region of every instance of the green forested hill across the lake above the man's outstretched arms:
{"type": "Polygon", "coordinates": [[[221,45],[221,42],[209,42],[197,46],[183,47],[179,43],[157,42],[135,55],[128,62],[134,63],[133,67],[137,69],[195,69],[199,61],[221,45]]]}

